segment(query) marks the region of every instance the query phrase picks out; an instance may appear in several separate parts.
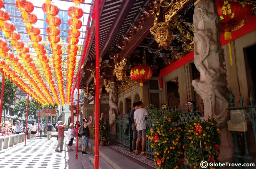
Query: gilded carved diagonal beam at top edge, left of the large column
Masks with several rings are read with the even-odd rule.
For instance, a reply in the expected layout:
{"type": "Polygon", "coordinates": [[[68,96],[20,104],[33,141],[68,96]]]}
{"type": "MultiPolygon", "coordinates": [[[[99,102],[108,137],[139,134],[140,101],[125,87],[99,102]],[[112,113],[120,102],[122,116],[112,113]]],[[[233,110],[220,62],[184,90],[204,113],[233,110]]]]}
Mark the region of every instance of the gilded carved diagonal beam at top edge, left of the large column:
{"type": "Polygon", "coordinates": [[[171,8],[165,13],[165,22],[170,22],[173,17],[180,12],[190,0],[176,0],[175,3],[171,5],[171,8]]]}

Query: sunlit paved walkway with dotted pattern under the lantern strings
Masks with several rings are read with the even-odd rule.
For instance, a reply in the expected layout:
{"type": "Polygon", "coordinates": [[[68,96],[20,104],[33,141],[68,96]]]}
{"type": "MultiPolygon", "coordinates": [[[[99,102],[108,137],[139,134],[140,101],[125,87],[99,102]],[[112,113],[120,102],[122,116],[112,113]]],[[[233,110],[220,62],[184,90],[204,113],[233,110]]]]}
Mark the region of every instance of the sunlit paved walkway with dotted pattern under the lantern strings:
{"type": "MultiPolygon", "coordinates": [[[[64,138],[63,150],[56,152],[55,147],[58,141],[56,138],[27,140],[8,149],[0,151],[0,168],[50,168],[50,169],[84,169],[82,167],[81,152],[78,152],[78,159],[75,159],[75,151],[67,151],[67,137],[64,138]]],[[[75,146],[72,146],[75,150],[75,146]]],[[[81,148],[79,148],[81,149],[81,148]]]]}

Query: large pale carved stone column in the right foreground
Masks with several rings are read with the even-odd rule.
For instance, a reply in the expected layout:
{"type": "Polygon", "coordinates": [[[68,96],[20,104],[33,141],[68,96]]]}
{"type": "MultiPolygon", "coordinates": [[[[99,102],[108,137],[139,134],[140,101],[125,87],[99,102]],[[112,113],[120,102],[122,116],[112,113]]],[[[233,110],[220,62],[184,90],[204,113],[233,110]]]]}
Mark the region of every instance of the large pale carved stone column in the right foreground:
{"type": "Polygon", "coordinates": [[[229,120],[228,89],[226,69],[223,67],[220,45],[220,17],[213,0],[201,0],[195,6],[194,57],[196,68],[200,72],[200,81],[193,80],[192,85],[204,100],[204,118],[218,118],[221,129],[221,162],[233,161],[233,139],[227,129],[229,120]]]}

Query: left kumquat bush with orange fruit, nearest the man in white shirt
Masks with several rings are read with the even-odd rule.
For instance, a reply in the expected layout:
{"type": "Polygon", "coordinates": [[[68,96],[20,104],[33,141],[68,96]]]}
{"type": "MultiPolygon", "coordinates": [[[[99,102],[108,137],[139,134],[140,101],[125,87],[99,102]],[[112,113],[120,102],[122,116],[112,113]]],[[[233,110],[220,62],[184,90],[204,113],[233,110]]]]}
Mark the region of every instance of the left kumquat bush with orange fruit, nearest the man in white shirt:
{"type": "Polygon", "coordinates": [[[161,115],[161,111],[152,109],[152,106],[150,108],[149,114],[155,116],[156,123],[147,131],[147,138],[154,150],[155,166],[159,169],[177,169],[184,159],[181,112],[170,112],[164,109],[161,115]]]}

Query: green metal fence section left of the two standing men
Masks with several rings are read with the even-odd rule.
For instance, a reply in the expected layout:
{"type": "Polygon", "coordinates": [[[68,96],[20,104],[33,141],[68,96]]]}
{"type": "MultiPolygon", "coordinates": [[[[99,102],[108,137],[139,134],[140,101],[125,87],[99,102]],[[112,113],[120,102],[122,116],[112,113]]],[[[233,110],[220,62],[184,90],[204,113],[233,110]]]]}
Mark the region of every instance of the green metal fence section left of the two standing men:
{"type": "Polygon", "coordinates": [[[131,151],[132,148],[131,125],[130,113],[116,115],[116,144],[129,151],[131,151]]]}

